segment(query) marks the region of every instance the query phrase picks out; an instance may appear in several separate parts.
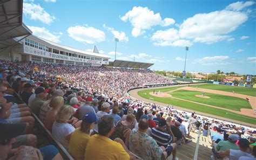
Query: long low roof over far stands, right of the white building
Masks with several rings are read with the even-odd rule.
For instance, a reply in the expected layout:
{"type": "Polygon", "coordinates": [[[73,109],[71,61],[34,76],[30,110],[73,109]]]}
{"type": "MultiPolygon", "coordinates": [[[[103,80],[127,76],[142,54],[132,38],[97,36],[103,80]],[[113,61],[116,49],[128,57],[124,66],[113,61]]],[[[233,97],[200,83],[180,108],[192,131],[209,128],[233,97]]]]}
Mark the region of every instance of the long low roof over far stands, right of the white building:
{"type": "Polygon", "coordinates": [[[114,60],[109,62],[109,66],[113,67],[128,67],[128,68],[149,68],[153,64],[146,62],[114,60]]]}

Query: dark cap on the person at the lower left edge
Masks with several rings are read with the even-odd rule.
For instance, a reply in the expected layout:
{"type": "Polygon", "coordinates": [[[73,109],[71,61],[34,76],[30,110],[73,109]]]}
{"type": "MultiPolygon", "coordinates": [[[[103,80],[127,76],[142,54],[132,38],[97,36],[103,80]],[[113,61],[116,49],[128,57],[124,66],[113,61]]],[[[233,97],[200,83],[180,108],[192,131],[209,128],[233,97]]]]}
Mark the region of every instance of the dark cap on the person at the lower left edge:
{"type": "Polygon", "coordinates": [[[5,124],[0,123],[0,143],[8,143],[11,138],[22,135],[26,130],[26,123],[5,124]]]}

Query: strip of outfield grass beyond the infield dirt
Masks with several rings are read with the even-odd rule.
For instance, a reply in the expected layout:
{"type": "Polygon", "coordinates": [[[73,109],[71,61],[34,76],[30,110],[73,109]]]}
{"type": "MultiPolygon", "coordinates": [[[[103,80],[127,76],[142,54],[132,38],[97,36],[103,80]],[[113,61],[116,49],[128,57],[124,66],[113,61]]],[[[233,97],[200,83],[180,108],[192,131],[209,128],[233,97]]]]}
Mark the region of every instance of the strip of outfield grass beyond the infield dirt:
{"type": "Polygon", "coordinates": [[[191,87],[214,89],[218,91],[235,92],[245,95],[256,96],[256,88],[227,86],[227,85],[215,85],[215,84],[203,84],[203,85],[191,85],[191,87]]]}

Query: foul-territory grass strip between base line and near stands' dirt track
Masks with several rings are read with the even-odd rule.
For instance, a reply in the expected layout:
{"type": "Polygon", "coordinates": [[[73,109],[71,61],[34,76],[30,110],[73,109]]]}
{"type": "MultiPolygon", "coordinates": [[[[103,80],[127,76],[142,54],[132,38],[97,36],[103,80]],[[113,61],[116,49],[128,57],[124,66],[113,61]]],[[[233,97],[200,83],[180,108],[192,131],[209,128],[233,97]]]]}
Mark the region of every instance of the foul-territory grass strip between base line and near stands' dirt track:
{"type": "MultiPolygon", "coordinates": [[[[180,86],[180,87],[183,87],[183,86],[180,86]]],[[[169,90],[167,90],[167,91],[170,91],[170,89],[173,90],[174,88],[176,89],[176,87],[170,87],[169,90]]],[[[167,89],[167,88],[165,88],[165,89],[167,89]]],[[[173,98],[159,98],[156,96],[152,96],[149,93],[152,92],[153,90],[154,89],[147,89],[144,91],[139,91],[138,95],[142,96],[145,99],[153,98],[154,101],[157,101],[157,102],[166,103],[166,104],[181,107],[181,108],[191,109],[196,112],[198,111],[198,112],[202,112],[202,113],[225,117],[227,119],[246,122],[246,123],[250,123],[250,124],[256,124],[256,119],[254,119],[253,117],[239,115],[239,114],[227,111],[227,110],[212,108],[212,107],[199,105],[199,104],[191,103],[191,102],[186,102],[186,101],[182,101],[182,100],[177,100],[177,99],[173,99],[173,98]]],[[[160,89],[158,89],[158,91],[159,90],[160,89]]],[[[165,90],[164,92],[167,92],[167,91],[165,90]]],[[[156,92],[156,89],[155,89],[155,92],[156,92]]],[[[162,91],[160,90],[160,92],[162,92],[162,91]]]]}

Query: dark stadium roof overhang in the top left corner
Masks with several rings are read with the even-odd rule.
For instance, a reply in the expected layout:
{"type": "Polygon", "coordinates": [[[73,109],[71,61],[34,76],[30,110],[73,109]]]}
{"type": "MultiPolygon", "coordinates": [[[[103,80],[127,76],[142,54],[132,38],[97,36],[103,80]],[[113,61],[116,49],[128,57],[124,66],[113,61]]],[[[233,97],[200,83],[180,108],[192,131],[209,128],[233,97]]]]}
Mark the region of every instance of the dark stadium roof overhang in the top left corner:
{"type": "Polygon", "coordinates": [[[0,51],[16,45],[20,40],[32,34],[22,23],[22,0],[0,1],[0,51]],[[17,37],[23,38],[16,41],[17,37]],[[13,43],[11,40],[14,39],[13,43]]]}

